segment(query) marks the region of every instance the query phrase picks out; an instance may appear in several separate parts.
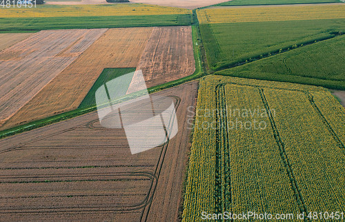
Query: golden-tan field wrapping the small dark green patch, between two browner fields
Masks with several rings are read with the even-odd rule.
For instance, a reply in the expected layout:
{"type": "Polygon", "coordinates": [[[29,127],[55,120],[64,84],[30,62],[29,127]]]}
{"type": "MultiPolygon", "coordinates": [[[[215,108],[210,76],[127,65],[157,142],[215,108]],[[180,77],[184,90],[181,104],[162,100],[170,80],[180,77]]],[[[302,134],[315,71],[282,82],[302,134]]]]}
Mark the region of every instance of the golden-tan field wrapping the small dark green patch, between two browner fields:
{"type": "MultiPolygon", "coordinates": [[[[0,130],[74,110],[83,101],[104,68],[137,66],[151,32],[152,28],[109,29],[24,105],[0,130]]],[[[66,54],[68,55],[67,52],[63,52],[58,58],[66,58],[66,54]]]]}

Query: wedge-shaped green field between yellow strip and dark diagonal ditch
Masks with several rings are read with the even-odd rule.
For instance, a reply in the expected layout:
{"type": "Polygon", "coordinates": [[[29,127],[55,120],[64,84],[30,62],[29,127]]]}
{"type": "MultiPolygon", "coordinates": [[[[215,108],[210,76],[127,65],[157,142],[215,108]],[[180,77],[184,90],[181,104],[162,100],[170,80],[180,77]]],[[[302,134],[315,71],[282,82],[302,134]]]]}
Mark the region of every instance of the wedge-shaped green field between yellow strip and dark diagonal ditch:
{"type": "Polygon", "coordinates": [[[279,50],[335,37],[345,19],[201,24],[211,70],[232,68],[279,50]],[[208,27],[209,26],[209,27],[208,27]]]}

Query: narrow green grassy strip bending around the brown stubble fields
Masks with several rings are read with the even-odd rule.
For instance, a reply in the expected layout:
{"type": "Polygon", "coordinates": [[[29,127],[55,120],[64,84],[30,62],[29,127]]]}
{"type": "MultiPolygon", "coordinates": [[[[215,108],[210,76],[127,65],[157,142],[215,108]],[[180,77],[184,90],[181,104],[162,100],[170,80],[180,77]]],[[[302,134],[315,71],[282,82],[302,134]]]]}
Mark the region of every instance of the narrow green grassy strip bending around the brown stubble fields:
{"type": "MultiPolygon", "coordinates": [[[[201,72],[201,55],[199,52],[199,44],[197,42],[197,27],[196,26],[192,26],[192,34],[193,34],[193,51],[194,51],[194,58],[195,58],[195,72],[188,76],[188,77],[184,77],[182,79],[177,79],[175,81],[171,81],[169,83],[164,83],[161,85],[157,85],[155,87],[152,88],[148,88],[148,92],[149,93],[153,93],[153,92],[158,92],[160,90],[164,90],[166,88],[171,88],[175,85],[180,85],[182,83],[186,83],[187,81],[192,81],[194,79],[198,79],[199,77],[202,76],[202,72],[201,72]]],[[[132,97],[132,95],[127,95],[126,97],[119,99],[117,101],[114,101],[114,103],[118,103],[124,100],[128,100],[132,97]]],[[[0,139],[3,139],[5,137],[10,137],[14,134],[19,134],[21,132],[27,132],[29,130],[33,130],[36,128],[40,128],[44,125],[50,125],[52,123],[57,123],[60,121],[64,121],[66,119],[71,119],[73,117],[78,117],[81,116],[83,114],[86,114],[88,112],[92,112],[97,110],[96,106],[91,106],[88,108],[78,108],[76,110],[72,110],[70,112],[64,112],[61,114],[57,114],[53,117],[48,117],[45,119],[41,119],[39,121],[33,121],[31,123],[26,123],[24,125],[19,125],[15,128],[10,128],[8,130],[3,130],[0,132],[0,139]]]]}

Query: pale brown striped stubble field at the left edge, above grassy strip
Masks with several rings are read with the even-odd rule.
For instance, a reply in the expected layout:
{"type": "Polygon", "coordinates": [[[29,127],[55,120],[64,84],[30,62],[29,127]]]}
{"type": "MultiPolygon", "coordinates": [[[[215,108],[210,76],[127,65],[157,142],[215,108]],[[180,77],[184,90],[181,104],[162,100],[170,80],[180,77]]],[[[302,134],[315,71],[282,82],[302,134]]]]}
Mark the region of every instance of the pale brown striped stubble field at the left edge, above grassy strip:
{"type": "Polygon", "coordinates": [[[0,125],[75,61],[103,32],[106,30],[42,31],[0,52],[0,125]]]}

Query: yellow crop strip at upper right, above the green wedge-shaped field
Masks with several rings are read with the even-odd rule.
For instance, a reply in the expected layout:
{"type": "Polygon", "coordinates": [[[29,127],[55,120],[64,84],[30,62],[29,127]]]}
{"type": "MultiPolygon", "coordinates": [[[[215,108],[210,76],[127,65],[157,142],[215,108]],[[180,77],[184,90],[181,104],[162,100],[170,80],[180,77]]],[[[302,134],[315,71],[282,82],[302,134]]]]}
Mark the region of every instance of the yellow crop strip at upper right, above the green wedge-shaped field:
{"type": "Polygon", "coordinates": [[[345,19],[345,5],[211,8],[197,15],[200,23],[345,19]]]}

